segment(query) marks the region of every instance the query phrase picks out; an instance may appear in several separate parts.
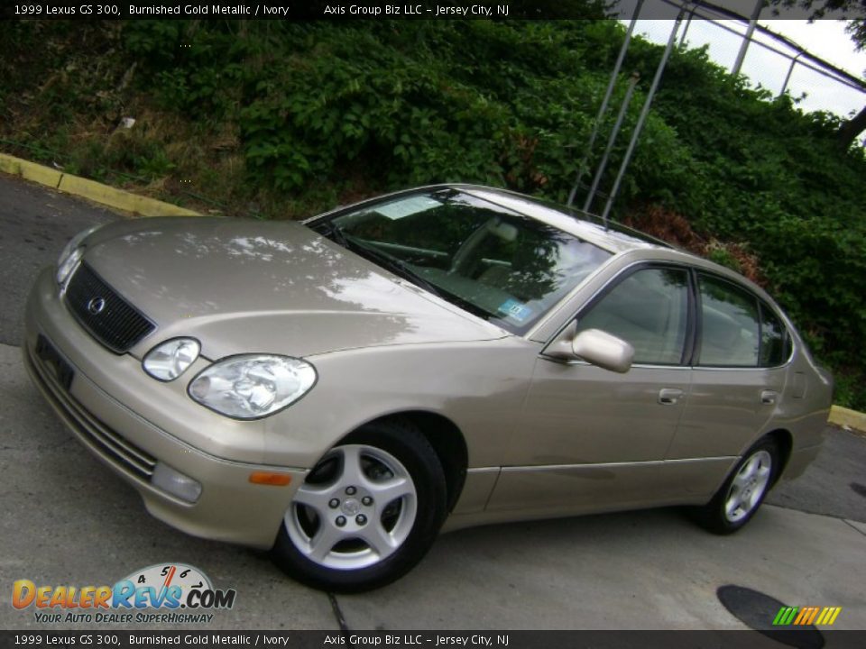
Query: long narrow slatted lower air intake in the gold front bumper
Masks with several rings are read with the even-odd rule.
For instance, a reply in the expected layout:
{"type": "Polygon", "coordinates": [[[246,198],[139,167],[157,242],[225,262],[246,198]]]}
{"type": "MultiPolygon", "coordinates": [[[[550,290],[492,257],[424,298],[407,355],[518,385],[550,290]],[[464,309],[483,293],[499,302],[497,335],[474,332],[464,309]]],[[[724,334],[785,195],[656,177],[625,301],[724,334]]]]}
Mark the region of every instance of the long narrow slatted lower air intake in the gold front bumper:
{"type": "MultiPolygon", "coordinates": [[[[53,349],[51,343],[41,336],[40,339],[42,348],[53,349]]],[[[156,458],[91,415],[87,408],[78,403],[78,399],[73,398],[60,384],[49,368],[50,363],[37,355],[35,350],[28,350],[28,352],[25,358],[30,365],[32,375],[38,379],[44,394],[51,398],[54,407],[67,424],[78,433],[78,436],[118,469],[140,480],[150,482],[153,470],[156,468],[156,458]]],[[[53,353],[62,358],[58,352],[53,353]]]]}

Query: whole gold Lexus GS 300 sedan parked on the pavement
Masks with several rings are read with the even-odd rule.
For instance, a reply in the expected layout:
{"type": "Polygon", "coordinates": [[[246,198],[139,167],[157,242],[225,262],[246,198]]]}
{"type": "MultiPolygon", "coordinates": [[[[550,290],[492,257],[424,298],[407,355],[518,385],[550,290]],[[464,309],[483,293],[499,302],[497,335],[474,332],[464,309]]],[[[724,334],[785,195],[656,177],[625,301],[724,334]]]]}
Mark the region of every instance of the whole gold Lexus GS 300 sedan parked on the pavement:
{"type": "Polygon", "coordinates": [[[733,532],[815,458],[833,387],[736,273],[463,185],[80,233],[26,332],[153,516],[333,590],[400,577],[443,525],[691,505],[733,532]]]}

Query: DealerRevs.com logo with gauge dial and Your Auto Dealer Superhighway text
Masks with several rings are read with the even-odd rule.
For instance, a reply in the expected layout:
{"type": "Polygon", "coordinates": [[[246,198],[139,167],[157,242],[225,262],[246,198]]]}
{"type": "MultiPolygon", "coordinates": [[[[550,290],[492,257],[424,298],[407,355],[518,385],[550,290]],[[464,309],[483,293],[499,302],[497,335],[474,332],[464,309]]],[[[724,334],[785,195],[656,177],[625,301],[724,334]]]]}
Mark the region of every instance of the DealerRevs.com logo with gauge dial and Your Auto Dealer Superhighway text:
{"type": "Polygon", "coordinates": [[[212,610],[235,606],[234,589],[216,590],[204,572],[185,563],[158,563],[114,586],[37,586],[17,580],[12,605],[36,622],[177,624],[210,622],[212,610]]]}

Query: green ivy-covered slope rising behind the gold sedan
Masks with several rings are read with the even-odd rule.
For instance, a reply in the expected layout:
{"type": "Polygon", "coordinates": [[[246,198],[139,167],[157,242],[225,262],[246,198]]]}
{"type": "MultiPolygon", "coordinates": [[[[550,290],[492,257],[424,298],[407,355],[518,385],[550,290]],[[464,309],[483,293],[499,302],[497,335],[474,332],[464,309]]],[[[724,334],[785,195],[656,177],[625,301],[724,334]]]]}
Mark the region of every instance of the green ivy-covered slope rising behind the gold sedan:
{"type": "MultiPolygon", "coordinates": [[[[563,201],[623,35],[605,20],[5,22],[0,149],[263,218],[438,181],[563,201]]],[[[626,133],[660,56],[631,47],[613,98],[638,71],[626,133]]],[[[837,127],[678,50],[614,215],[765,284],[833,367],[837,402],[866,409],[866,158],[838,150],[837,127]]]]}

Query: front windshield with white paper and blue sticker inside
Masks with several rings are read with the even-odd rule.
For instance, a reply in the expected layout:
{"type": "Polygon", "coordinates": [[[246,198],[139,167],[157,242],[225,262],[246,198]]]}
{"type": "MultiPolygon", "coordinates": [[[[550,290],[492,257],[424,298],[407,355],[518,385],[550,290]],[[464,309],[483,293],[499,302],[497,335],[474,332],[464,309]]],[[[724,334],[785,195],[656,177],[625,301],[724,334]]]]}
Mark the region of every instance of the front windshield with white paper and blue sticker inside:
{"type": "Polygon", "coordinates": [[[314,228],[514,334],[611,256],[454,189],[392,198],[314,228]]]}

